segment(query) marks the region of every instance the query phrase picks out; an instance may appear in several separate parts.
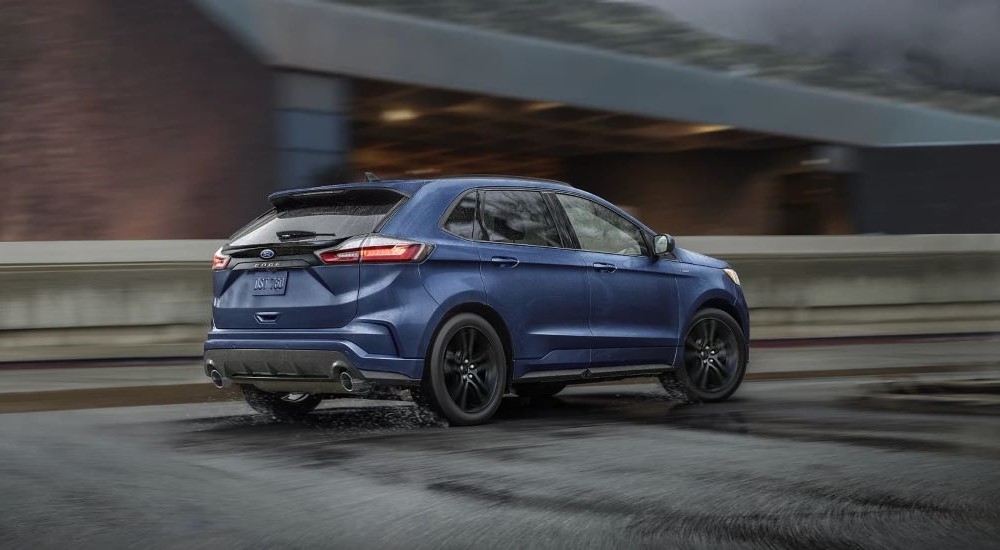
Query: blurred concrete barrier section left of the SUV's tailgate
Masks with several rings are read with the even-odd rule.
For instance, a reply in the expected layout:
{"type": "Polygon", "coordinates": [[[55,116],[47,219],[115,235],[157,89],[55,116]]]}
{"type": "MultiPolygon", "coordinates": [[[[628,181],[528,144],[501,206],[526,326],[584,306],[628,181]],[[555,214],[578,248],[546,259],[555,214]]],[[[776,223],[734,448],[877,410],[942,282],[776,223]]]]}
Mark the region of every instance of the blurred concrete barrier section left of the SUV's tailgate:
{"type": "Polygon", "coordinates": [[[200,355],[221,244],[0,243],[0,362],[200,355]]]}

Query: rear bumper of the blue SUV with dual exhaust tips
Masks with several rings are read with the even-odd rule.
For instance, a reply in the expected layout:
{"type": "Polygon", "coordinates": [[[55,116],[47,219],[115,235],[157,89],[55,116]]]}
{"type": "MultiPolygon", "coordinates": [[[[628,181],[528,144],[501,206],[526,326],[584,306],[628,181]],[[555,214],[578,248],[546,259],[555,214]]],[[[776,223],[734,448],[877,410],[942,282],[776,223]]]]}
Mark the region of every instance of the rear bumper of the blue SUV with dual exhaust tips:
{"type": "Polygon", "coordinates": [[[208,340],[205,375],[213,370],[236,384],[266,391],[344,393],[342,372],[381,386],[420,383],[423,361],[365,354],[350,342],[208,340]]]}

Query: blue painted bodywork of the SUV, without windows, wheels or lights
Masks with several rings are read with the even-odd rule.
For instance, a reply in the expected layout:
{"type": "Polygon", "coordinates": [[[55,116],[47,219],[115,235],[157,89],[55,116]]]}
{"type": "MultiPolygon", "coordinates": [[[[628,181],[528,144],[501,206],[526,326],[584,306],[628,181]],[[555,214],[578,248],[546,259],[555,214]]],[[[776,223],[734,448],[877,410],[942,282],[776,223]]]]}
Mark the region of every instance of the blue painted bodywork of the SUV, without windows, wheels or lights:
{"type": "MultiPolygon", "coordinates": [[[[722,271],[728,264],[721,260],[684,249],[675,250],[673,259],[657,259],[472,242],[439,227],[448,207],[470,189],[530,187],[594,200],[653,234],[599,197],[558,183],[493,177],[313,191],[372,186],[409,195],[379,232],[432,245],[427,259],[292,270],[289,286],[316,288],[288,297],[250,296],[233,286],[246,272],[216,272],[214,323],[205,349],[334,350],[363,370],[420,378],[436,328],[449,312],[470,305],[502,318],[511,335],[515,379],[535,370],[677,364],[689,320],[711,300],[731,305],[749,337],[746,300],[722,271]],[[519,264],[501,267],[494,257],[514,257],[519,264]],[[597,271],[595,262],[617,269],[597,271]],[[252,312],[261,310],[280,312],[278,324],[251,323],[252,312]]],[[[296,192],[301,190],[276,193],[271,200],[296,192]]]]}

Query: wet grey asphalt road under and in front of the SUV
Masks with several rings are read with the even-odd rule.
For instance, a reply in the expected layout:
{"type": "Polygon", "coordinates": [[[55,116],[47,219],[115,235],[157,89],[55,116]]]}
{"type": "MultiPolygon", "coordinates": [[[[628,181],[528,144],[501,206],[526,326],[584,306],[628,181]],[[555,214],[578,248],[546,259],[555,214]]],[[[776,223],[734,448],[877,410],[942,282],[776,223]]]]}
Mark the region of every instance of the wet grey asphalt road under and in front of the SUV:
{"type": "Polygon", "coordinates": [[[856,383],[578,387],[475,428],[357,401],[0,415],[0,546],[1000,547],[1000,421],[855,408],[856,383]]]}

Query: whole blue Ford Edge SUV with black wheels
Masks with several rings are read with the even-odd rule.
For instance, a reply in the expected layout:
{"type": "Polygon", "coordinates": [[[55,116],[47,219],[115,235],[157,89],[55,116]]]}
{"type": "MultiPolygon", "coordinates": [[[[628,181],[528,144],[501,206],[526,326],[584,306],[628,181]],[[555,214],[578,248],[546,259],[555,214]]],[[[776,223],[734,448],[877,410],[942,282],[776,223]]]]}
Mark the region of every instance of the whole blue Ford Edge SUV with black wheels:
{"type": "Polygon", "coordinates": [[[215,255],[204,358],[260,412],[407,387],[471,425],[508,392],[658,376],[711,402],[743,379],[736,272],[567,184],[373,181],[269,200],[215,255]]]}

